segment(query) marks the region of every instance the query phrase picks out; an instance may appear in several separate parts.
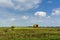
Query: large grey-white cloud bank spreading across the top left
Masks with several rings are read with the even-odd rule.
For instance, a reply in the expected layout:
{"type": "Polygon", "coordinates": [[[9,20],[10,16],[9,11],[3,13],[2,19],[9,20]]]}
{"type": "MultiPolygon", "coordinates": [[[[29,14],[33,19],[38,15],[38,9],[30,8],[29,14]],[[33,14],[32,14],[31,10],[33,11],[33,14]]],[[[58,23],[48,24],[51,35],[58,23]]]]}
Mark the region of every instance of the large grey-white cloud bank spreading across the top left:
{"type": "Polygon", "coordinates": [[[0,0],[0,6],[17,10],[37,8],[39,3],[41,3],[41,0],[0,0]]]}

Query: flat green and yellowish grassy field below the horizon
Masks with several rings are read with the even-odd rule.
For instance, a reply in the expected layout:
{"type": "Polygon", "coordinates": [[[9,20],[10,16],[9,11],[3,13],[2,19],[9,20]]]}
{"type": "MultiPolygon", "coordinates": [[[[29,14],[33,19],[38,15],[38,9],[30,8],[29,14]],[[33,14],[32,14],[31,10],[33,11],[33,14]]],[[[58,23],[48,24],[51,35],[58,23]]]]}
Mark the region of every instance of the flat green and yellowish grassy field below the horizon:
{"type": "Polygon", "coordinates": [[[60,28],[0,28],[0,40],[60,40],[60,28]]]}

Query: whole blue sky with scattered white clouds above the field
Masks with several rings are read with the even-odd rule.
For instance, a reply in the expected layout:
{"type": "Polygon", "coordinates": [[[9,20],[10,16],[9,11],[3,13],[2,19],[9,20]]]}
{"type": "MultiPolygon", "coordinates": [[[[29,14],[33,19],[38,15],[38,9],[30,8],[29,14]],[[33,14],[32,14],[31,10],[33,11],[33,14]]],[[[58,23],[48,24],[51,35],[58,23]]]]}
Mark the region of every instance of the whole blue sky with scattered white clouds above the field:
{"type": "Polygon", "coordinates": [[[0,26],[60,26],[60,0],[0,0],[0,26]]]}

